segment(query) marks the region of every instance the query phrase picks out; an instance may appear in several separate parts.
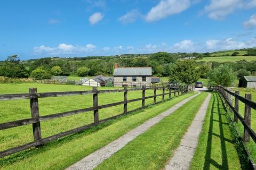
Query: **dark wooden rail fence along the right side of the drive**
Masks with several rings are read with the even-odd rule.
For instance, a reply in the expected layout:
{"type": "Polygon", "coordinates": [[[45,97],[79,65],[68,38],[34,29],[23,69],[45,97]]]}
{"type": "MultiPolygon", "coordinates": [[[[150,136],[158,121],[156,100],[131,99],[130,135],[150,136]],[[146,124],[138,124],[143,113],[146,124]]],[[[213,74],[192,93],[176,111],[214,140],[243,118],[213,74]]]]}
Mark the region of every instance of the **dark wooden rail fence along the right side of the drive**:
{"type": "MultiPolygon", "coordinates": [[[[245,147],[245,142],[249,142],[250,138],[256,143],[256,133],[251,129],[251,109],[256,110],[256,103],[252,101],[251,94],[245,94],[245,97],[239,95],[239,91],[232,92],[231,90],[227,89],[226,87],[217,86],[212,87],[212,89],[218,90],[224,100],[226,107],[229,107],[230,112],[234,112],[234,122],[238,122],[238,120],[244,126],[244,134],[242,139],[243,145],[245,147]],[[235,104],[233,106],[233,97],[235,98],[235,104]],[[239,101],[244,103],[244,117],[239,113],[239,101]]],[[[250,158],[250,152],[245,147],[246,154],[250,158]]],[[[253,169],[256,169],[256,165],[254,164],[253,160],[250,159],[250,165],[253,169]]]]}

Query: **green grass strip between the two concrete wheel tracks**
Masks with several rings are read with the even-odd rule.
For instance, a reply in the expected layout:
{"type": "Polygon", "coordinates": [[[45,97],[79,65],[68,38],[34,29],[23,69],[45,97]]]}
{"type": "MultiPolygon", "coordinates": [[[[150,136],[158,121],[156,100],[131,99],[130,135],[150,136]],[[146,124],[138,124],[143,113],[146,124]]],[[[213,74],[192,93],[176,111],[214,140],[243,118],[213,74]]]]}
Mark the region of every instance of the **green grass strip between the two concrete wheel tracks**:
{"type": "Polygon", "coordinates": [[[203,103],[203,93],[165,117],[95,169],[161,169],[179,146],[203,103]]]}

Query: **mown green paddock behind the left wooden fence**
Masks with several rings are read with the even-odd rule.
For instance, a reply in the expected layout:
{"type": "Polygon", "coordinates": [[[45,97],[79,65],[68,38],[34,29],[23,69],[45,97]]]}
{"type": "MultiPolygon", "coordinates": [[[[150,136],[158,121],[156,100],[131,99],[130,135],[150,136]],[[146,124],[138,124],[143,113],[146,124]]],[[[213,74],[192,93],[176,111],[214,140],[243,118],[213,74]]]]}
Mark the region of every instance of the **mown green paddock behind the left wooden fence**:
{"type": "MultiPolygon", "coordinates": [[[[26,93],[29,87],[37,87],[38,92],[49,91],[76,91],[91,90],[92,87],[72,86],[72,85],[55,85],[55,84],[0,84],[0,94],[26,93]]],[[[99,88],[113,89],[113,88],[99,88]]],[[[162,90],[157,90],[157,94],[161,94],[162,90]]],[[[146,96],[154,95],[154,90],[146,90],[146,96]]],[[[128,92],[128,100],[142,97],[142,91],[128,92]]],[[[167,96],[166,96],[167,97],[167,96]]],[[[99,105],[123,101],[123,92],[99,94],[99,105]]],[[[157,97],[157,101],[161,100],[161,96],[157,97]]],[[[39,98],[39,114],[49,115],[66,111],[73,111],[92,107],[92,95],[77,95],[63,97],[39,98]]],[[[147,99],[145,104],[153,103],[153,98],[147,99]]],[[[141,107],[141,101],[128,104],[128,111],[141,107]]],[[[100,120],[123,113],[123,105],[113,106],[100,109],[100,120]]],[[[0,101],[0,123],[30,118],[29,99],[0,101]]],[[[42,137],[49,137],[70,129],[93,122],[93,112],[77,114],[73,116],[61,117],[54,120],[41,122],[42,137]]],[[[19,146],[27,142],[33,141],[33,133],[31,125],[19,126],[16,128],[0,131],[0,150],[19,146]]]]}

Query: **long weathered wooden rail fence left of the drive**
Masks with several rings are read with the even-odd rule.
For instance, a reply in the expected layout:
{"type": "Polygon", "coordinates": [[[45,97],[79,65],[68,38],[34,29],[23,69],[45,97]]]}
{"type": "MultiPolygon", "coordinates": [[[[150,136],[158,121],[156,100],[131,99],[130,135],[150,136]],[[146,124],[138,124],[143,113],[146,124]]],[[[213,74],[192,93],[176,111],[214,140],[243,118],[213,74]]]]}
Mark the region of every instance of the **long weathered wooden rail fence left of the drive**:
{"type": "MultiPolygon", "coordinates": [[[[121,115],[125,115],[134,111],[137,111],[138,109],[145,108],[145,100],[149,98],[154,98],[154,104],[161,103],[165,99],[165,95],[169,95],[169,99],[171,99],[171,94],[176,95],[181,95],[184,93],[187,93],[189,91],[194,90],[194,87],[191,86],[169,86],[169,87],[158,87],[158,88],[142,88],[142,89],[114,89],[114,90],[98,90],[97,87],[93,87],[93,90],[88,90],[88,91],[65,91],[65,92],[37,92],[36,88],[29,88],[29,94],[7,94],[7,95],[0,95],[0,101],[1,100],[15,100],[15,99],[30,99],[30,110],[31,110],[31,118],[26,118],[23,120],[18,120],[18,121],[12,121],[12,122],[5,122],[0,124],[0,130],[4,129],[9,129],[9,128],[14,128],[17,126],[23,126],[23,125],[28,125],[32,124],[33,125],[33,135],[34,135],[34,141],[30,143],[26,143],[25,145],[21,145],[18,147],[10,148],[7,150],[0,151],[0,158],[5,157],[7,155],[14,154],[15,152],[19,152],[31,147],[38,147],[43,145],[46,142],[65,137],[66,135],[73,134],[76,132],[83,131],[85,129],[91,128],[92,126],[98,125],[100,123],[106,122],[110,119],[117,118],[121,115]],[[145,91],[146,90],[154,90],[154,95],[153,96],[147,96],[145,97],[145,91]],[[156,90],[162,90],[162,94],[156,94],[156,90]],[[167,90],[167,92],[165,92],[167,90]],[[141,98],[136,98],[136,99],[131,99],[127,100],[127,93],[129,91],[142,91],[142,97],[141,98]],[[113,92],[123,92],[124,93],[124,100],[119,101],[116,103],[111,103],[111,104],[105,104],[105,105],[98,105],[98,94],[108,94],[108,93],[113,93],[113,92]],[[84,109],[78,109],[75,111],[68,111],[68,112],[63,112],[63,113],[57,113],[57,114],[51,114],[51,115],[45,115],[45,116],[40,116],[39,115],[39,108],[38,108],[38,98],[44,98],[44,97],[58,97],[58,96],[72,96],[72,95],[86,95],[86,94],[92,94],[93,95],[93,107],[89,108],[84,108],[84,109]],[[156,102],[156,97],[157,96],[162,96],[162,100],[156,102]],[[137,108],[133,111],[127,112],[127,104],[132,103],[134,101],[142,101],[141,107],[137,108]],[[107,108],[111,106],[117,106],[117,105],[123,105],[123,113],[106,118],[104,120],[99,120],[99,109],[102,108],[107,108]],[[76,115],[84,112],[89,112],[93,111],[94,115],[94,122],[91,124],[87,124],[84,126],[81,126],[79,128],[69,130],[66,132],[61,132],[59,134],[52,135],[50,137],[42,138],[41,136],[41,125],[40,122],[42,121],[47,121],[47,120],[52,120],[54,118],[59,118],[59,117],[65,117],[65,116],[70,116],[70,115],[76,115]]],[[[168,100],[168,99],[167,99],[168,100]]],[[[14,106],[15,107],[15,106],[14,106]]]]}

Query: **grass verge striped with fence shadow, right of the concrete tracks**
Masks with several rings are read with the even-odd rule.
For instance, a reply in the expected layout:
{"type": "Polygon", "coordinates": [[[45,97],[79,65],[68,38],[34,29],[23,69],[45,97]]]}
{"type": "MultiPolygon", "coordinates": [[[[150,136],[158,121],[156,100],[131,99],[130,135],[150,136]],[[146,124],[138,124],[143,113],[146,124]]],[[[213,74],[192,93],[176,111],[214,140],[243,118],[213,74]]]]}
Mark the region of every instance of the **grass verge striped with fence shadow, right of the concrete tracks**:
{"type": "Polygon", "coordinates": [[[212,94],[190,169],[241,169],[225,109],[212,94]]]}

